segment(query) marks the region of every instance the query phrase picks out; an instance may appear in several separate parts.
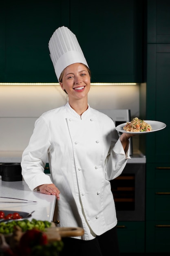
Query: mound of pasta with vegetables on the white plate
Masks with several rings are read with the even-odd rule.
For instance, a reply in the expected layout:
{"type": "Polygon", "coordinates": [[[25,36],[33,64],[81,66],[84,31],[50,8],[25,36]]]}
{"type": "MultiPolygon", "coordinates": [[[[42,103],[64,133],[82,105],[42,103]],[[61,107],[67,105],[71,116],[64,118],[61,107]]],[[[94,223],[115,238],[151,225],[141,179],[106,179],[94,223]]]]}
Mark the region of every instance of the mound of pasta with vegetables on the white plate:
{"type": "Polygon", "coordinates": [[[132,119],[132,121],[126,123],[126,125],[124,126],[124,130],[126,130],[127,132],[150,132],[152,130],[152,127],[144,120],[135,117],[132,119]]]}

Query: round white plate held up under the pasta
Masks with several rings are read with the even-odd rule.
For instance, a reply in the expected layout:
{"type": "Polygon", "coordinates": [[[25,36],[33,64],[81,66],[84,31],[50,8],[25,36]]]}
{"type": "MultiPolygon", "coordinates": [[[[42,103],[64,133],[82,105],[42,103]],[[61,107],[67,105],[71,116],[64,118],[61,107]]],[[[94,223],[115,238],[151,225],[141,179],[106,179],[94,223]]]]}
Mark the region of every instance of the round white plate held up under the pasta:
{"type": "Polygon", "coordinates": [[[125,132],[125,133],[131,133],[131,134],[145,134],[145,133],[150,133],[150,132],[156,132],[156,131],[166,128],[166,124],[159,122],[159,121],[152,121],[152,120],[144,120],[144,121],[152,126],[151,131],[149,131],[149,132],[127,132],[126,130],[124,130],[124,126],[126,125],[126,123],[119,124],[116,127],[116,130],[118,132],[125,132]]]}

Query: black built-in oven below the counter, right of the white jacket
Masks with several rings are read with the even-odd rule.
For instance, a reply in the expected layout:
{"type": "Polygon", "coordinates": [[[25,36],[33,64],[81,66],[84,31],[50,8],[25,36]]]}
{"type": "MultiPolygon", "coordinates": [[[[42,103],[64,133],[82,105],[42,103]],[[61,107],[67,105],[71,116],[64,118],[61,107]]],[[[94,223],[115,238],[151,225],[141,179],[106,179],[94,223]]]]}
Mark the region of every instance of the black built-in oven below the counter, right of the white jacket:
{"type": "Polygon", "coordinates": [[[127,163],[110,181],[118,221],[145,220],[145,163],[127,163]]]}

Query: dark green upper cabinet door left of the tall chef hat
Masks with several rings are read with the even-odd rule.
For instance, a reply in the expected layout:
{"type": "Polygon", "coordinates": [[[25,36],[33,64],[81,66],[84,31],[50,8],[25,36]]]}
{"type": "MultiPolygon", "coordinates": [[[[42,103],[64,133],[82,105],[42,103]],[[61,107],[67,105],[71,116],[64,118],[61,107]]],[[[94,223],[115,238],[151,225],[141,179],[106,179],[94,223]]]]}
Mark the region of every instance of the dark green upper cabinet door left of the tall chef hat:
{"type": "Polygon", "coordinates": [[[4,71],[1,82],[57,82],[48,43],[57,27],[69,25],[69,0],[4,2],[1,19],[4,13],[6,17],[0,25],[5,42],[0,49],[5,54],[3,61],[0,58],[0,72],[4,71]]]}

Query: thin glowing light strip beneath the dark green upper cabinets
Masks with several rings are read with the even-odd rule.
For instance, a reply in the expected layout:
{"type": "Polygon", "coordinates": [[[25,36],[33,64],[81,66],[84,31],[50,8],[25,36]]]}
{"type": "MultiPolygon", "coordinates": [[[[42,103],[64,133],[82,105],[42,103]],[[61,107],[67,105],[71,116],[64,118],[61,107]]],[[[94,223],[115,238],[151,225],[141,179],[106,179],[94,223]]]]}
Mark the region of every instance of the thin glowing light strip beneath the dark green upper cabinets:
{"type": "MultiPolygon", "coordinates": [[[[0,83],[0,85],[60,85],[59,83],[0,83]]],[[[91,85],[139,85],[139,83],[91,83],[91,85]]]]}

